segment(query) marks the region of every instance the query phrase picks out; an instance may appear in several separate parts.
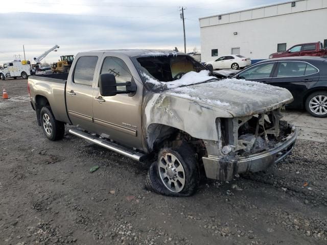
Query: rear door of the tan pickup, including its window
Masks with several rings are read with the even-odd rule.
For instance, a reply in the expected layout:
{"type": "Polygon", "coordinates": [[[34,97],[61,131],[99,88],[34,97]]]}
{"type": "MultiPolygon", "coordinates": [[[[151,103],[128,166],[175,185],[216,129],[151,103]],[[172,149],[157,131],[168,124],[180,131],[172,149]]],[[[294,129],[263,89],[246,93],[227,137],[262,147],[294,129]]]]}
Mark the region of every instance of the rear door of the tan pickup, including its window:
{"type": "Polygon", "coordinates": [[[66,86],[66,105],[69,119],[73,125],[91,131],[92,129],[92,85],[98,56],[80,56],[66,86]]]}

